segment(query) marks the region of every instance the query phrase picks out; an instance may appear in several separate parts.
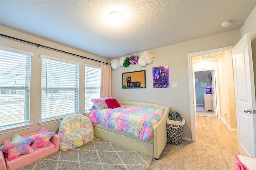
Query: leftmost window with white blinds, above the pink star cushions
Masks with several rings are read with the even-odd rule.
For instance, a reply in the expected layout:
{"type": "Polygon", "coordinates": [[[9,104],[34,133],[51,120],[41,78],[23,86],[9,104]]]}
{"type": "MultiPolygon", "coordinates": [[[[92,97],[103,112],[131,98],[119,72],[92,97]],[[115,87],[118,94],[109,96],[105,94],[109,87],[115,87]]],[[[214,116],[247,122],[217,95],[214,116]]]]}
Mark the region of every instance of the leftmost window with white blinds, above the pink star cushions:
{"type": "Polygon", "coordinates": [[[29,124],[31,52],[0,46],[0,129],[29,124]]]}

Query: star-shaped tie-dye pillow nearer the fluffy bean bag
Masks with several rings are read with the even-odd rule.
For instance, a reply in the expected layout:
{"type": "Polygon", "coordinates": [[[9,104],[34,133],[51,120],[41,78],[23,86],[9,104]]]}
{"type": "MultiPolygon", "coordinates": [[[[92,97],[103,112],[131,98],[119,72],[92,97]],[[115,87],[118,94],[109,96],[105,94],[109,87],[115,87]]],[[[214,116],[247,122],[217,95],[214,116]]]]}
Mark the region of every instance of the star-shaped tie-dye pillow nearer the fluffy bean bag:
{"type": "Polygon", "coordinates": [[[54,132],[48,132],[48,130],[43,127],[38,134],[34,135],[31,148],[36,150],[40,147],[49,147],[51,145],[50,139],[54,134],[54,132]]]}

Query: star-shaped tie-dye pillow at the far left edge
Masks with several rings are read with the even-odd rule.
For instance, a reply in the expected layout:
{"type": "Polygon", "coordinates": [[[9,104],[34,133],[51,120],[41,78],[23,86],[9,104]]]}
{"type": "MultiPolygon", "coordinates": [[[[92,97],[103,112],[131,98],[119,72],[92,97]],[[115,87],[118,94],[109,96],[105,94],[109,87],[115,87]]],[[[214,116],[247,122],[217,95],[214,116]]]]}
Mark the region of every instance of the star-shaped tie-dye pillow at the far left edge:
{"type": "Polygon", "coordinates": [[[22,138],[20,135],[15,134],[12,140],[0,147],[0,150],[8,153],[7,160],[13,160],[21,154],[28,154],[33,152],[33,149],[29,146],[33,137],[22,138]]]}

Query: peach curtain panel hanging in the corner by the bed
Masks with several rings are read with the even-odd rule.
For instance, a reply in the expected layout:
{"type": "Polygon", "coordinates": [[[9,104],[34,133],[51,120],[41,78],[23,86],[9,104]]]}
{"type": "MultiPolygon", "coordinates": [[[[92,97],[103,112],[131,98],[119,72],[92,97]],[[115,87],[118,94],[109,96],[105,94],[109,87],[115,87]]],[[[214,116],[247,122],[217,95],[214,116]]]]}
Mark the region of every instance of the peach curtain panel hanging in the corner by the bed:
{"type": "Polygon", "coordinates": [[[111,65],[101,62],[100,98],[111,96],[111,65]]]}

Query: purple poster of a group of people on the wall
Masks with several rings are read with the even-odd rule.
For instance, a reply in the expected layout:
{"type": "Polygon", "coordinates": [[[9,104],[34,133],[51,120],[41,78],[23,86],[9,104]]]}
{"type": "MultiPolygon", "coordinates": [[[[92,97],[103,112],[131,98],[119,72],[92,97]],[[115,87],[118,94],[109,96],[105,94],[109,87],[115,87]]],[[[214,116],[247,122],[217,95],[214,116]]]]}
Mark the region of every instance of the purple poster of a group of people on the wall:
{"type": "Polygon", "coordinates": [[[169,87],[169,66],[153,67],[153,88],[169,87]]]}

